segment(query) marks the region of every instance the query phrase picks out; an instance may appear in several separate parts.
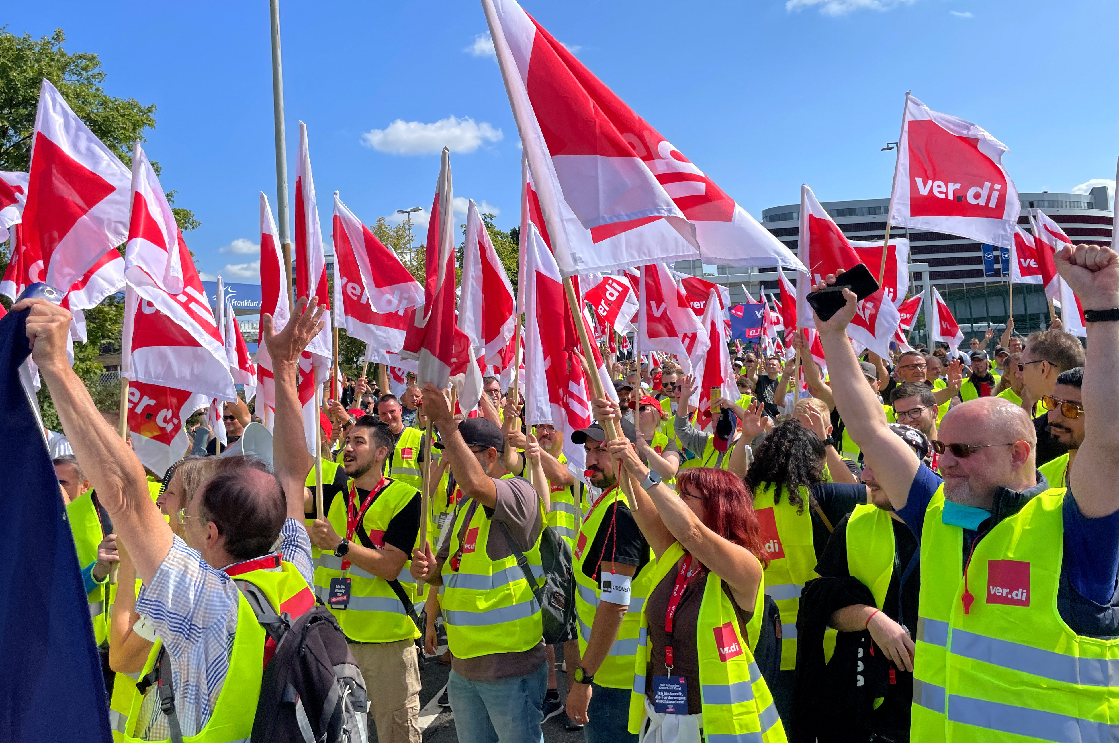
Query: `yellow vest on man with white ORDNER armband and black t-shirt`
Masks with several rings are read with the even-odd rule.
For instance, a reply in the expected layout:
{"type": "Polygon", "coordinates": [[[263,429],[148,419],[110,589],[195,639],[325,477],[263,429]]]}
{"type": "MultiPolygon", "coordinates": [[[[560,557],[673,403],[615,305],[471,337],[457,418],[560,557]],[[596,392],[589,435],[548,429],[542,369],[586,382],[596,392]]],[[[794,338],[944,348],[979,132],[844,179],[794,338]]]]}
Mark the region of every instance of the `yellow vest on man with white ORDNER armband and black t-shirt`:
{"type": "MultiPolygon", "coordinates": [[[[575,545],[574,564],[575,571],[575,610],[579,614],[579,653],[582,657],[586,652],[586,643],[591,639],[591,627],[594,624],[594,612],[602,598],[602,586],[598,581],[586,576],[583,567],[589,557],[591,546],[602,526],[604,514],[609,510],[611,502],[629,508],[629,501],[620,488],[602,495],[591,512],[583,521],[583,527],[579,530],[579,540],[575,545]]],[[[609,527],[606,527],[609,528],[609,527]]],[[[606,544],[610,544],[609,536],[606,544]]],[[[602,559],[608,559],[608,553],[603,553],[602,559]]],[[[650,558],[652,557],[650,551],[650,558]]],[[[650,563],[652,561],[650,559],[650,563]]],[[[594,571],[592,571],[594,572],[594,571]]],[[[622,618],[622,624],[618,629],[610,652],[602,660],[599,670],[594,673],[594,681],[600,686],[609,686],[615,689],[628,689],[633,680],[633,665],[637,656],[637,636],[641,630],[641,609],[645,600],[652,589],[652,565],[645,567],[633,577],[630,584],[630,605],[622,618]]]]}

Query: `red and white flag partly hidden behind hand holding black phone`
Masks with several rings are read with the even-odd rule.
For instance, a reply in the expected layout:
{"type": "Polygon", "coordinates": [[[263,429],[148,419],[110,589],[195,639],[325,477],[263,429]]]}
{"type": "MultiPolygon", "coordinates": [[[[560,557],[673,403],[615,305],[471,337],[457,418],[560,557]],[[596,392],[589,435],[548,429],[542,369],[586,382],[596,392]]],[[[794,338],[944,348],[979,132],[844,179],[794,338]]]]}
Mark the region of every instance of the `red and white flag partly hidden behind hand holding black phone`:
{"type": "MultiPolygon", "coordinates": [[[[858,253],[831,216],[816,200],[808,186],[800,187],[800,257],[810,266],[811,281],[820,281],[838,270],[850,270],[862,263],[858,253]]],[[[881,260],[882,252],[878,251],[881,260]]],[[[797,316],[801,327],[815,328],[812,311],[808,304],[810,282],[797,282],[797,316]]],[[[878,356],[890,356],[890,341],[901,320],[897,308],[880,286],[876,292],[858,303],[855,318],[847,326],[852,339],[878,356]]],[[[786,325],[788,327],[788,325],[786,325]]]]}

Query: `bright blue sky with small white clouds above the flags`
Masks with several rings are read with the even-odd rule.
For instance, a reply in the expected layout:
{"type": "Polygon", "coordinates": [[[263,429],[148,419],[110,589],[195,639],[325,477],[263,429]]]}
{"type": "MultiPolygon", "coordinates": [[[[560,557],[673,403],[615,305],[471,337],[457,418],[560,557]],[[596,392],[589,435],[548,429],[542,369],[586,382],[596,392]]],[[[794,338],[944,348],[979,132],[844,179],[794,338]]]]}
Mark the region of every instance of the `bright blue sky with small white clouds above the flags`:
{"type": "MultiPolygon", "coordinates": [[[[821,200],[887,196],[894,158],[880,149],[906,90],[1005,142],[1022,191],[1115,175],[1109,0],[524,6],[754,216],[797,201],[801,182],[821,200]]],[[[199,266],[257,281],[256,195],[275,199],[266,0],[25,2],[4,22],[62,27],[68,50],[101,56],[109,93],[157,104],[145,148],[201,220],[187,235],[199,266]]],[[[444,142],[455,195],[517,224],[517,130],[479,2],[281,0],[281,23],[289,180],[302,120],[327,233],[335,190],[366,223],[430,207],[444,142]]]]}

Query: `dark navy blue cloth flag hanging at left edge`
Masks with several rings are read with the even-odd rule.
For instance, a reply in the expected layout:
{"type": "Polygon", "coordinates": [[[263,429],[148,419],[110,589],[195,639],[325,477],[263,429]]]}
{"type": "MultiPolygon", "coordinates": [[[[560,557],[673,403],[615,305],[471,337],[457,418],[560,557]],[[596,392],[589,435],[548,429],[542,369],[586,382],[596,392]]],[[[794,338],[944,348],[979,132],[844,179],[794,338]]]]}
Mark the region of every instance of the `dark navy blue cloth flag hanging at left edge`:
{"type": "Polygon", "coordinates": [[[101,662],[55,468],[19,379],[27,311],[0,319],[0,740],[112,743],[101,662]]]}

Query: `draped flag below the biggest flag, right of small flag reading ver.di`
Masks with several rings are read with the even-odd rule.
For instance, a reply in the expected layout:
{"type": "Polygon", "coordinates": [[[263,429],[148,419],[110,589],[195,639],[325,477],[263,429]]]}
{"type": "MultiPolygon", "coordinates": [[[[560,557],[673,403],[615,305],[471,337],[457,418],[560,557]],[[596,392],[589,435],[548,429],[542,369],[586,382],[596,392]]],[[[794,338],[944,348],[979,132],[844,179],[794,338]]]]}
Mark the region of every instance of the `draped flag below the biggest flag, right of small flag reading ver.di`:
{"type": "MultiPolygon", "coordinates": [[[[722,308],[714,309],[722,322],[722,308]]],[[[641,348],[676,354],[684,374],[693,374],[692,359],[703,358],[706,351],[706,329],[664,263],[641,266],[638,331],[641,348]]]]}

